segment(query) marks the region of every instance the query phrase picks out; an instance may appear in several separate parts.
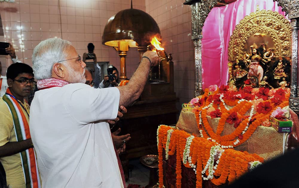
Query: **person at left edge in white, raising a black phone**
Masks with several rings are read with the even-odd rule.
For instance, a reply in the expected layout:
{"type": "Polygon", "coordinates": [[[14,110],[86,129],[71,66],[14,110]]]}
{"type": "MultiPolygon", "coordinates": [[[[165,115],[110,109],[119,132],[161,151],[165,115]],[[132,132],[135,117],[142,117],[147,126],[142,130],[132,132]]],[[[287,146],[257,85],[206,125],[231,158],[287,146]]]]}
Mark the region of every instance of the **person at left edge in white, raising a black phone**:
{"type": "MultiPolygon", "coordinates": [[[[21,61],[19,61],[18,56],[16,56],[15,49],[10,43],[9,43],[9,47],[5,48],[5,51],[10,55],[10,58],[13,61],[13,63],[17,63],[17,62],[22,63],[21,61]]],[[[2,65],[0,62],[0,99],[5,94],[7,88],[8,88],[7,78],[6,76],[2,75],[2,65]]]]}

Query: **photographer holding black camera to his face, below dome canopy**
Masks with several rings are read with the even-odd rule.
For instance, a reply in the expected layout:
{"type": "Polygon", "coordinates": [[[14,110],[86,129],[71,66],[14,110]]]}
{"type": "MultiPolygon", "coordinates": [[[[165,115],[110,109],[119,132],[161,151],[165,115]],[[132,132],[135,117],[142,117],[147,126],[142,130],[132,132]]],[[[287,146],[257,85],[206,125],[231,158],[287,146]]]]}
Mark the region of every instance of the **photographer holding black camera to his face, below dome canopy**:
{"type": "Polygon", "coordinates": [[[109,65],[107,69],[108,75],[104,76],[103,81],[100,83],[99,88],[116,87],[119,83],[118,70],[116,67],[109,65]]]}

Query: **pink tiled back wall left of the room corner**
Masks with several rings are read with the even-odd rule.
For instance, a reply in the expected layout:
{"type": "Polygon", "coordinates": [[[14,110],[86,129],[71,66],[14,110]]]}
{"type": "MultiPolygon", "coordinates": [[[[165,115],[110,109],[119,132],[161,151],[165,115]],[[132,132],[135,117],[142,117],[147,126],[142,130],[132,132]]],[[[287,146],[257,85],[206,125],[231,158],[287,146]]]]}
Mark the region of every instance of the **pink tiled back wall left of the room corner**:
{"type": "MultiPolygon", "coordinates": [[[[11,42],[21,61],[32,65],[34,47],[51,37],[60,37],[72,42],[82,56],[87,44],[95,45],[98,61],[110,61],[120,67],[118,53],[102,44],[102,35],[108,19],[120,10],[130,8],[130,0],[16,0],[1,2],[0,13],[4,28],[4,41],[11,42]]],[[[145,1],[133,1],[133,8],[145,11],[145,1]]],[[[130,77],[138,65],[139,55],[131,48],[127,55],[127,76],[130,77]]],[[[2,61],[5,75],[11,64],[2,61]]]]}

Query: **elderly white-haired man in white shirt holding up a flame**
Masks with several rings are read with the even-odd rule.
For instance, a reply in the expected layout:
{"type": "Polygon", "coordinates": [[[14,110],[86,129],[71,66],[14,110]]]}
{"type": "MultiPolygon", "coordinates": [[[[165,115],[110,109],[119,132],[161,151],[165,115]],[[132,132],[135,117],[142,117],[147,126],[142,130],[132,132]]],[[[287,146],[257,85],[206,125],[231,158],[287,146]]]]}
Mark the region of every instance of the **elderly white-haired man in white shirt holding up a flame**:
{"type": "Polygon", "coordinates": [[[40,42],[32,61],[39,91],[30,133],[42,187],[126,187],[107,121],[139,97],[157,54],[144,53],[129,84],[105,89],[84,84],[86,64],[69,41],[40,42]]]}

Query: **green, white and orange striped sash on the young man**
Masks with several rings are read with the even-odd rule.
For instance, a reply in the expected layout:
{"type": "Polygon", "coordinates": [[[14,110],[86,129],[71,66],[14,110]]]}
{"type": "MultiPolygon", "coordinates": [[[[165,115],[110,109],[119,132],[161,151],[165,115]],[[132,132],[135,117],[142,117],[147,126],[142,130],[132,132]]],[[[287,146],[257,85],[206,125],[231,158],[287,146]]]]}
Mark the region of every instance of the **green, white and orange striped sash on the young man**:
{"type": "MultiPolygon", "coordinates": [[[[15,129],[16,140],[22,141],[31,138],[28,121],[26,114],[29,119],[29,113],[26,108],[11,94],[10,89],[7,88],[3,100],[6,102],[12,116],[13,116],[13,127],[15,129]],[[24,114],[22,108],[26,111],[24,114]]],[[[20,152],[22,168],[26,183],[26,188],[29,187],[41,187],[39,180],[39,172],[37,169],[36,156],[33,148],[29,148],[25,151],[20,152]]]]}

